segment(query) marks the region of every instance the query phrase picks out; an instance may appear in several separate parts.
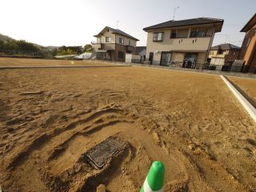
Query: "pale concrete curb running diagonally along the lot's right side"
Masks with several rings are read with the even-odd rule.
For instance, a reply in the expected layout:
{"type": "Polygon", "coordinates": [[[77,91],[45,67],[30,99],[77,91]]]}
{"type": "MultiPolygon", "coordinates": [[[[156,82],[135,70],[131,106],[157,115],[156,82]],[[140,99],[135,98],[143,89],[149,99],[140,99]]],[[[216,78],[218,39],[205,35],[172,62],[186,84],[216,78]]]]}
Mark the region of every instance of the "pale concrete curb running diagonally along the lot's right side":
{"type": "Polygon", "coordinates": [[[240,94],[239,91],[234,88],[234,86],[229,82],[229,80],[226,79],[226,77],[224,77],[223,75],[220,76],[222,80],[226,83],[226,86],[230,88],[234,96],[238,98],[238,101],[242,104],[243,108],[245,108],[247,113],[250,114],[250,117],[254,119],[254,122],[256,122],[256,109],[254,108],[254,106],[252,106],[250,102],[248,102],[246,98],[244,98],[242,94],[240,94]]]}

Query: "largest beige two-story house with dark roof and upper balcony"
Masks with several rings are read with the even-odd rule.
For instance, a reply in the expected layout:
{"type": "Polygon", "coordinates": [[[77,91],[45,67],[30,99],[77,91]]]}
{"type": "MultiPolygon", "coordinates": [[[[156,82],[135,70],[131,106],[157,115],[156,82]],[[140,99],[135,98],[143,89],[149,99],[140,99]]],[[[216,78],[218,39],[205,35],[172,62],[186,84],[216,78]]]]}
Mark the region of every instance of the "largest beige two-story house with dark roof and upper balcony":
{"type": "Polygon", "coordinates": [[[214,34],[222,30],[222,19],[171,20],[144,28],[147,32],[146,60],[194,68],[207,61],[214,34]]]}

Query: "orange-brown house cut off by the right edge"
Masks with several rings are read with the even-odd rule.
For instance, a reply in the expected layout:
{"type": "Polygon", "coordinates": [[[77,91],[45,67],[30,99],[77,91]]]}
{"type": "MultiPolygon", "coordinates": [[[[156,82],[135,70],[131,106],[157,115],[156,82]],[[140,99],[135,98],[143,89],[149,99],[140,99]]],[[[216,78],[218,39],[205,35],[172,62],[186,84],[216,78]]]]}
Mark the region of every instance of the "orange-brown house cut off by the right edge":
{"type": "Polygon", "coordinates": [[[250,18],[240,32],[245,32],[246,36],[242,42],[239,58],[245,61],[246,72],[256,73],[256,14],[250,18]]]}

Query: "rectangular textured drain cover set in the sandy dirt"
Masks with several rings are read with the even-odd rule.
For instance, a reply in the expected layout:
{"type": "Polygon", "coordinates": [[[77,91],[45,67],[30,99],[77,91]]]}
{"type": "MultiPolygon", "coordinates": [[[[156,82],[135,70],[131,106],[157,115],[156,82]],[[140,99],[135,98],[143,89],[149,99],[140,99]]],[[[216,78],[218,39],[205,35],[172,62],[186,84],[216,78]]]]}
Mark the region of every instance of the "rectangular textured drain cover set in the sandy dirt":
{"type": "Polygon", "coordinates": [[[107,160],[118,154],[125,147],[126,142],[110,137],[88,150],[85,156],[91,166],[101,169],[106,165],[107,160]]]}

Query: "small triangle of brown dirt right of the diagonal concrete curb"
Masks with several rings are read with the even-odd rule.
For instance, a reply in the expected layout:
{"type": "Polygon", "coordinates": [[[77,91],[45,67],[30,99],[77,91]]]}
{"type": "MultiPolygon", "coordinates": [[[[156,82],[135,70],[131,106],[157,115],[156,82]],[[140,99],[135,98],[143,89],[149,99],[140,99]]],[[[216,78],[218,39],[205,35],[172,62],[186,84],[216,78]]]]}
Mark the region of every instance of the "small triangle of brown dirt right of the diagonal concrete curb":
{"type": "Polygon", "coordinates": [[[230,81],[237,85],[256,103],[256,79],[229,77],[230,81]]]}

